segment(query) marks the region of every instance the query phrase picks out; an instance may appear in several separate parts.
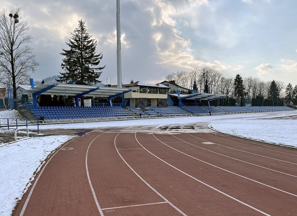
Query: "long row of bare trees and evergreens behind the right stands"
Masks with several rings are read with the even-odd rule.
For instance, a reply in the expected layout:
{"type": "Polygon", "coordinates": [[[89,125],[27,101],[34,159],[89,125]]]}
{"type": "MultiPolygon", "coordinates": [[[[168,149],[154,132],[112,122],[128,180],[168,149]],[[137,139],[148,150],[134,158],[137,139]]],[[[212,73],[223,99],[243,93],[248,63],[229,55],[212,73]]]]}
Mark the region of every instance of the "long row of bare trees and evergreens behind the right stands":
{"type": "Polygon", "coordinates": [[[295,88],[279,80],[263,81],[258,77],[226,77],[222,71],[211,67],[194,68],[191,71],[176,71],[166,75],[167,81],[192,89],[196,92],[228,94],[236,98],[236,103],[253,106],[278,106],[284,100],[286,104],[297,103],[297,85],[295,88]],[[261,98],[261,102],[260,99],[261,98]]]}

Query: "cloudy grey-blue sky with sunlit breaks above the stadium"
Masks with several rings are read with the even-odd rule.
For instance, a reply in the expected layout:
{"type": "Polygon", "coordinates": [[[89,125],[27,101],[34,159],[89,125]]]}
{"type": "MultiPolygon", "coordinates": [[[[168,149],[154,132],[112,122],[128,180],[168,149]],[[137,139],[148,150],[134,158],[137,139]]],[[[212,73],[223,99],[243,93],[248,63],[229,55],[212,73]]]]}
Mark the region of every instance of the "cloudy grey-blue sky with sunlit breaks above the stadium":
{"type": "MultiPolygon", "coordinates": [[[[116,84],[116,0],[0,0],[22,8],[40,63],[32,78],[58,75],[62,48],[82,19],[102,52],[101,79],[116,84]]],[[[156,84],[204,66],[226,77],[297,84],[296,0],[121,0],[123,83],[156,84]]]]}

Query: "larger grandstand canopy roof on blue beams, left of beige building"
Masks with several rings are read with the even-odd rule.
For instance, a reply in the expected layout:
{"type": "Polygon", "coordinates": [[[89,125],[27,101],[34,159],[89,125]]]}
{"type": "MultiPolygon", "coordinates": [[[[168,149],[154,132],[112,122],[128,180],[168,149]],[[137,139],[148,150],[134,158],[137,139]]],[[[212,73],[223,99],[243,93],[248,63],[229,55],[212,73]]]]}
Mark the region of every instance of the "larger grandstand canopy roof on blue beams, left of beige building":
{"type": "Polygon", "coordinates": [[[132,88],[111,88],[90,85],[57,84],[44,83],[27,91],[27,93],[49,94],[49,95],[70,95],[77,96],[83,94],[89,97],[110,97],[123,94],[132,88]]]}

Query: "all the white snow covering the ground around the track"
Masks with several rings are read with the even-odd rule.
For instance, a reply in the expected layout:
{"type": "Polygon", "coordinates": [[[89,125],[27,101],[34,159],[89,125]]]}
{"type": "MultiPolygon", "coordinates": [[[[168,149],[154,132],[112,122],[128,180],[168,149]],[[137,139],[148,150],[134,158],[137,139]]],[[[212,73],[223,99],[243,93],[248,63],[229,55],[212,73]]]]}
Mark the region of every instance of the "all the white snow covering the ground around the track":
{"type": "MultiPolygon", "coordinates": [[[[0,118],[18,118],[15,115],[17,115],[15,110],[0,111],[0,118]]],[[[207,128],[207,125],[210,125],[224,133],[297,147],[297,144],[294,142],[296,139],[294,132],[297,129],[296,116],[297,111],[286,111],[166,119],[137,119],[40,125],[40,130],[131,126],[158,128],[183,125],[198,125],[207,128]]],[[[29,128],[36,130],[36,126],[29,126],[29,128]]],[[[199,132],[199,129],[197,132],[199,132]]],[[[55,135],[35,136],[22,138],[16,142],[12,141],[6,144],[0,141],[0,182],[2,183],[0,186],[0,215],[9,216],[11,214],[17,200],[23,196],[30,186],[30,181],[34,178],[34,172],[40,169],[43,161],[54,149],[72,137],[55,135]]]]}

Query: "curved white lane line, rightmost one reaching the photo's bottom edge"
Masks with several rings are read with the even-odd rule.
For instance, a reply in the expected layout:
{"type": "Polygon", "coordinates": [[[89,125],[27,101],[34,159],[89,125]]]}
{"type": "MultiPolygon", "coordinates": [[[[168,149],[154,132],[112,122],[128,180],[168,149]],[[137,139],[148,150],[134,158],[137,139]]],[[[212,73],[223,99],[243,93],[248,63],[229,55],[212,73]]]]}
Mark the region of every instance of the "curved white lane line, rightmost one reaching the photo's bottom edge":
{"type": "MultiPolygon", "coordinates": [[[[141,145],[140,142],[139,142],[139,141],[137,140],[137,138],[136,138],[136,133],[135,133],[135,139],[136,139],[136,141],[138,142],[138,144],[141,145]]],[[[144,148],[143,145],[141,145],[141,146],[144,148]]],[[[144,149],[145,149],[147,152],[149,152],[151,155],[153,155],[154,157],[156,157],[156,158],[158,158],[159,160],[161,160],[162,162],[166,163],[168,166],[171,166],[172,168],[174,168],[174,169],[176,169],[177,171],[180,171],[181,173],[183,173],[184,175],[187,175],[187,176],[189,176],[190,178],[192,178],[192,179],[194,179],[194,180],[200,182],[201,184],[204,184],[205,186],[207,186],[207,187],[209,187],[209,188],[212,188],[213,190],[215,190],[215,191],[217,191],[217,192],[219,192],[219,193],[221,193],[221,194],[223,194],[223,195],[225,195],[225,196],[227,196],[227,197],[229,197],[229,198],[231,198],[231,199],[233,199],[233,200],[235,200],[235,201],[237,201],[237,202],[239,202],[239,203],[241,203],[241,204],[243,204],[243,205],[245,205],[245,206],[248,206],[249,208],[251,208],[251,209],[253,209],[253,210],[256,210],[257,212],[260,212],[260,213],[262,213],[262,214],[264,214],[264,215],[269,215],[269,214],[267,214],[267,213],[265,213],[265,212],[263,212],[263,211],[261,211],[261,210],[259,210],[259,209],[256,209],[255,207],[253,207],[253,206],[251,206],[251,205],[248,205],[247,203],[245,203],[245,202],[243,202],[243,201],[240,201],[240,200],[236,199],[235,197],[232,197],[232,196],[230,196],[230,195],[228,195],[228,194],[226,194],[226,193],[224,193],[224,192],[218,190],[217,188],[214,188],[214,187],[210,186],[209,184],[204,183],[203,181],[200,181],[199,179],[196,179],[196,178],[193,177],[192,175],[189,175],[189,174],[185,173],[184,171],[180,170],[179,168],[176,168],[175,166],[171,165],[170,163],[167,163],[166,161],[162,160],[162,159],[159,158],[157,155],[155,155],[155,154],[153,154],[152,152],[150,152],[148,149],[146,149],[146,148],[144,148],[144,149]]],[[[270,215],[269,215],[269,216],[270,216],[270,215]]]]}

